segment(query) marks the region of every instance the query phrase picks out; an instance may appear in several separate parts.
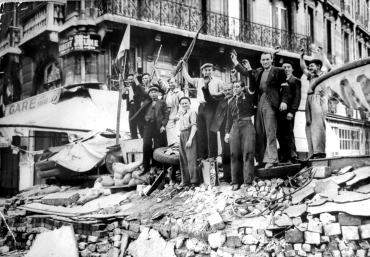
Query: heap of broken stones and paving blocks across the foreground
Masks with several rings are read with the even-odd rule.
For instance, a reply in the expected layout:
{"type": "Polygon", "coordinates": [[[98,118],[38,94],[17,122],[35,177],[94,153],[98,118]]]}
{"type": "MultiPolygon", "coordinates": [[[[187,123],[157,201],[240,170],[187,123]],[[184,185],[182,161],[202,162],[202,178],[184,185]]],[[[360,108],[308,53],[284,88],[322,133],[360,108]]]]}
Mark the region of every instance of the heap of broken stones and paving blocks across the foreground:
{"type": "Polygon", "coordinates": [[[105,219],[35,215],[12,209],[25,201],[15,198],[0,253],[32,251],[38,234],[72,226],[80,256],[370,256],[368,178],[370,167],[315,167],[236,192],[229,185],[166,187],[131,198],[160,208],[105,219]]]}

